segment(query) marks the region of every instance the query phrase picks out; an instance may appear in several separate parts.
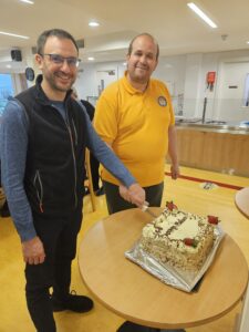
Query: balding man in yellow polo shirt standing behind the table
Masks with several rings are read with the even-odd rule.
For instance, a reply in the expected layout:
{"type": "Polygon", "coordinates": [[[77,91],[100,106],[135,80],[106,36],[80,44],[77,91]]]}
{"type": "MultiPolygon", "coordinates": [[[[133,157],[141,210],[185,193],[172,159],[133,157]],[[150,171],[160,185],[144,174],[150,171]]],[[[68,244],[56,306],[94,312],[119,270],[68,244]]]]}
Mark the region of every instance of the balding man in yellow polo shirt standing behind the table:
{"type": "MultiPolygon", "coordinates": [[[[103,91],[94,118],[97,133],[144,187],[151,206],[162,203],[167,153],[172,177],[179,175],[170,96],[163,82],[151,79],[158,55],[159,46],[151,34],[135,37],[125,75],[103,91]]],[[[106,169],[102,179],[110,214],[134,207],[120,198],[122,187],[106,169]]]]}

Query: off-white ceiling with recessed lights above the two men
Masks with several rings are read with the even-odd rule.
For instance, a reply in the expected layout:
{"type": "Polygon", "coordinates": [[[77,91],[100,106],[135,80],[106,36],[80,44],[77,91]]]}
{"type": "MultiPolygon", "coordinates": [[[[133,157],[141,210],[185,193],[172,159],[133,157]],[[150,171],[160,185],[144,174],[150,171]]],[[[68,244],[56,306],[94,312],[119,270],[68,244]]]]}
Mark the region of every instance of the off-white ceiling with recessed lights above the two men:
{"type": "Polygon", "coordinates": [[[125,58],[131,39],[152,33],[160,54],[184,54],[248,49],[249,0],[195,1],[218,25],[211,29],[191,12],[187,0],[0,0],[0,31],[28,35],[29,40],[0,34],[0,50],[34,46],[46,29],[62,28],[85,40],[80,56],[87,61],[125,58]],[[98,28],[87,25],[91,19],[98,28]],[[222,35],[227,35],[226,40],[222,35]]]}

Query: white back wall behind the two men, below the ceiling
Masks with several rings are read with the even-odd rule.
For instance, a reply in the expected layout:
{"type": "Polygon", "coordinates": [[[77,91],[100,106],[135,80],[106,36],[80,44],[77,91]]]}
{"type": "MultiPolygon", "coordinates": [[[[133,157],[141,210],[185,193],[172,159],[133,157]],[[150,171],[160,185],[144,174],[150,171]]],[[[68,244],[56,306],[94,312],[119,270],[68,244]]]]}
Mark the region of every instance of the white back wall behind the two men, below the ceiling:
{"type": "MultiPolygon", "coordinates": [[[[23,50],[23,54],[27,58],[24,62],[25,66],[30,65],[34,68],[32,60],[33,55],[30,51],[23,50]]],[[[241,60],[248,58],[248,50],[160,56],[153,76],[164,81],[168,85],[173,95],[173,104],[176,108],[176,114],[179,111],[179,101],[180,98],[183,100],[184,95],[184,116],[201,117],[204,98],[206,96],[208,98],[206,118],[219,120],[219,117],[224,115],[222,112],[218,110],[219,89],[220,84],[222,84],[219,76],[222,63],[231,59],[241,60]],[[216,72],[217,77],[212,91],[206,89],[206,75],[207,72],[210,71],[216,72]]],[[[81,98],[86,98],[87,96],[97,97],[100,94],[101,80],[104,80],[106,86],[111,82],[122,77],[125,70],[125,66],[123,65],[124,61],[83,63],[80,68],[79,77],[75,83],[79,96],[81,98]],[[115,74],[108,75],[108,71],[114,71],[115,74]]],[[[35,72],[38,71],[35,70],[35,72]]],[[[243,108],[241,116],[243,118],[240,120],[249,120],[249,107],[243,108]]],[[[232,111],[226,113],[226,118],[238,121],[238,116],[235,116],[235,112],[232,111]]]]}

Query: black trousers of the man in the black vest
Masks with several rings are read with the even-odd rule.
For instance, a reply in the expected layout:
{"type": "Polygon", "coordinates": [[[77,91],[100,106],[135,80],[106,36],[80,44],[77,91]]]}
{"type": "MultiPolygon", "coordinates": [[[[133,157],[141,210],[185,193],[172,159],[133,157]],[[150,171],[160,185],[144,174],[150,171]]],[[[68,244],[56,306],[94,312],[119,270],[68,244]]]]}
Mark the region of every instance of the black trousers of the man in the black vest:
{"type": "Polygon", "coordinates": [[[76,255],[76,237],[82,224],[82,206],[60,218],[37,216],[34,227],[43,242],[45,261],[25,266],[25,295],[31,319],[39,332],[55,332],[50,288],[63,301],[70,292],[71,263],[76,255]]]}

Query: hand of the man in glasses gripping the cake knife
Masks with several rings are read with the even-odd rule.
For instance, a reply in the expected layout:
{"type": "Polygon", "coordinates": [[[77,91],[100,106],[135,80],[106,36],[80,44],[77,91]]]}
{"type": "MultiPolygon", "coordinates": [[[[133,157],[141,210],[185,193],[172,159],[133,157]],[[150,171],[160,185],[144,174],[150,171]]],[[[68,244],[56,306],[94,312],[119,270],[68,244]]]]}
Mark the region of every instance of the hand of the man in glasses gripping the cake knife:
{"type": "Polygon", "coordinates": [[[145,203],[145,190],[138,184],[132,184],[128,188],[120,186],[121,196],[137,207],[142,208],[145,203]]]}

